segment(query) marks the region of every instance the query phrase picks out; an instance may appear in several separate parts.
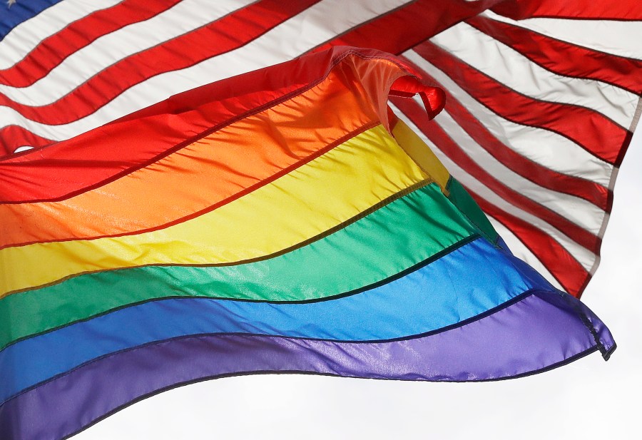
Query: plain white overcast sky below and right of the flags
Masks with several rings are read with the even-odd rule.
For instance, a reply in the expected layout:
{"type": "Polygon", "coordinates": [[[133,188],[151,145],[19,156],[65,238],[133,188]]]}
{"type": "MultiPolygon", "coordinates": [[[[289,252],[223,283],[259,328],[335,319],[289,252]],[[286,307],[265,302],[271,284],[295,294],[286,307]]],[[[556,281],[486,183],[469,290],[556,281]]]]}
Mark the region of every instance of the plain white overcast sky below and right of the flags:
{"type": "Polygon", "coordinates": [[[615,189],[602,262],[583,300],[618,349],[503,382],[445,384],[297,375],[217,379],[118,412],[73,440],[640,438],[642,133],[615,189]]]}

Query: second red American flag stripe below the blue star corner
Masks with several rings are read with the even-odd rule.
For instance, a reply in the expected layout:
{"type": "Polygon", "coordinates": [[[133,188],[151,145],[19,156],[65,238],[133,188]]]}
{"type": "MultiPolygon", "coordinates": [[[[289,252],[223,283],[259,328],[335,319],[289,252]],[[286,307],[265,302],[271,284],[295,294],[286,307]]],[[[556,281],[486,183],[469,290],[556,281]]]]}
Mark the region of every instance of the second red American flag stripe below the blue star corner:
{"type": "Polygon", "coordinates": [[[178,38],[123,58],[54,103],[27,106],[0,95],[0,106],[14,108],[31,121],[49,125],[71,123],[153,76],[188,68],[244,46],[317,1],[259,1],[178,38]]]}

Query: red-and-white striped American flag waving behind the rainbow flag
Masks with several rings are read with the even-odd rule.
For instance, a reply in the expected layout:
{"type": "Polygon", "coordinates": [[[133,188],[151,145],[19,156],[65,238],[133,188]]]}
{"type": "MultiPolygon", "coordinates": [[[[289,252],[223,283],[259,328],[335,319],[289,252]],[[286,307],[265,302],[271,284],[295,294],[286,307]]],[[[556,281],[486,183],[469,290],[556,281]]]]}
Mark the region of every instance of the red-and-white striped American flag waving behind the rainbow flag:
{"type": "Polygon", "coordinates": [[[98,128],[176,93],[330,45],[400,54],[447,91],[391,106],[511,250],[579,296],[642,110],[642,4],[606,0],[11,0],[0,151],[98,128]]]}

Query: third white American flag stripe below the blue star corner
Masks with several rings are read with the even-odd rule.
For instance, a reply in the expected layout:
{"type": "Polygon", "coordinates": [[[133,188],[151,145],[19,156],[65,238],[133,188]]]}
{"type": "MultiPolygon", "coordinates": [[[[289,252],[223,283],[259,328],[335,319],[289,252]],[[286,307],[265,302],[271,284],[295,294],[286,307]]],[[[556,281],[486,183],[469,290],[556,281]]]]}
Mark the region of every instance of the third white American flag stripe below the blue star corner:
{"type": "Polygon", "coordinates": [[[325,0],[235,51],[138,83],[85,118],[51,126],[31,121],[13,108],[0,106],[0,128],[17,125],[51,140],[68,139],[176,93],[288,61],[353,26],[374,19],[405,3],[407,1],[376,0],[370,1],[366,6],[360,3],[350,3],[350,6],[346,6],[342,0],[325,0]],[[315,29],[315,32],[303,32],[303,28],[315,29]]]}

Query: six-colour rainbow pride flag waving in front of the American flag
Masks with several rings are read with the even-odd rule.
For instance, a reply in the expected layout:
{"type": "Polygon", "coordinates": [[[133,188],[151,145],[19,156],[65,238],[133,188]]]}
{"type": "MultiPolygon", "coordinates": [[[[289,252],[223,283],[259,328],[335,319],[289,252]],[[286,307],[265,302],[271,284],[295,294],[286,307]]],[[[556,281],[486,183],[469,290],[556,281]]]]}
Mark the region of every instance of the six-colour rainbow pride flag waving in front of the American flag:
{"type": "Polygon", "coordinates": [[[615,344],[511,255],[347,47],[0,160],[0,438],[259,372],[479,381],[615,344]]]}

